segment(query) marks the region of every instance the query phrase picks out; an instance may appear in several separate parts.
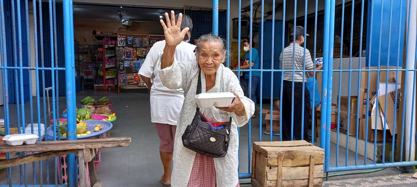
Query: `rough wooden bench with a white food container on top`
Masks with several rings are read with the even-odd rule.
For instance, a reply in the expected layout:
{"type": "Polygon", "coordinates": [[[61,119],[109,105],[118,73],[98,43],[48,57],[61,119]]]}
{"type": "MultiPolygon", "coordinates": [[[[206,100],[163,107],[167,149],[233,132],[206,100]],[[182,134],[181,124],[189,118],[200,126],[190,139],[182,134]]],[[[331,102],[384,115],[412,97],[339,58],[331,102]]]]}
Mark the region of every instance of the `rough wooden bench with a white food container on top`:
{"type": "Polygon", "coordinates": [[[131,138],[102,138],[89,140],[62,140],[62,141],[45,141],[37,142],[34,145],[10,146],[5,143],[0,144],[0,153],[8,152],[37,152],[33,155],[16,157],[9,160],[0,160],[0,168],[22,165],[39,160],[45,160],[50,157],[78,153],[78,168],[80,177],[80,187],[88,186],[90,177],[91,187],[102,187],[101,180],[95,176],[94,157],[97,155],[99,148],[116,148],[129,147],[131,138]],[[87,165],[89,176],[87,176],[87,165]]]}

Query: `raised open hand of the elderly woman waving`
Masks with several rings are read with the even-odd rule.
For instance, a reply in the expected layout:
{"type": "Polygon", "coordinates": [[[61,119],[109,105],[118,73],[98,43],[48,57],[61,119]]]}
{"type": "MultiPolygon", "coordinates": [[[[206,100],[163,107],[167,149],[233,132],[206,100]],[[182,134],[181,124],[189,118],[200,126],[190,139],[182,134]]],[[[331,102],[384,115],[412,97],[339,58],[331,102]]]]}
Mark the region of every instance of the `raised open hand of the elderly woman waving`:
{"type": "Polygon", "coordinates": [[[181,31],[181,20],[182,20],[181,13],[178,15],[177,22],[175,22],[175,13],[173,10],[171,10],[171,19],[169,19],[169,15],[167,12],[165,12],[165,18],[166,18],[166,25],[162,19],[160,20],[160,22],[163,27],[163,34],[165,35],[166,45],[177,46],[178,44],[181,43],[181,41],[183,41],[185,35],[190,29],[186,27],[181,31]]]}

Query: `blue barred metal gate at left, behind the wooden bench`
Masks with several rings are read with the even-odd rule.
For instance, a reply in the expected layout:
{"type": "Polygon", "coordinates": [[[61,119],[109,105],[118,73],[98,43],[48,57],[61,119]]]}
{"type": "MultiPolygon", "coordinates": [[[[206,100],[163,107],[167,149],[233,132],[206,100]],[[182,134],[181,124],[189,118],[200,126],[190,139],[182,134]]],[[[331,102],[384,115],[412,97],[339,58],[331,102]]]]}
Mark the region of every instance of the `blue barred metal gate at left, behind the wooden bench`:
{"type": "MultiPolygon", "coordinates": [[[[34,130],[38,129],[39,141],[48,141],[47,136],[45,135],[44,138],[41,134],[43,132],[40,130],[41,123],[43,123],[45,124],[45,133],[48,126],[53,129],[54,136],[49,141],[56,141],[58,111],[67,108],[68,139],[76,139],[74,133],[76,121],[72,1],[64,0],[63,4],[59,5],[62,7],[58,7],[58,10],[63,8],[62,20],[57,20],[55,0],[49,0],[47,3],[42,3],[40,0],[31,2],[28,0],[0,0],[0,69],[3,80],[3,115],[5,120],[4,128],[0,128],[0,130],[5,135],[25,133],[26,127],[30,127],[31,130],[27,133],[34,133],[34,130]],[[32,5],[31,11],[30,5],[32,5]],[[61,23],[59,26],[63,28],[57,28],[58,21],[61,23]],[[64,30],[63,37],[57,37],[57,32],[61,31],[58,33],[62,33],[62,30],[64,30]],[[44,38],[45,35],[49,39],[44,38]],[[58,48],[57,43],[62,44],[63,42],[65,42],[64,48],[58,48]],[[49,47],[44,48],[45,46],[49,47]],[[61,59],[58,54],[63,53],[64,50],[65,67],[63,63],[58,63],[58,59],[61,59]],[[61,98],[61,103],[64,103],[61,105],[59,102],[59,74],[65,74],[66,88],[66,98],[61,98]],[[50,81],[48,84],[52,87],[50,89],[52,91],[51,98],[47,98],[45,95],[47,90],[45,79],[50,81]],[[14,87],[9,87],[10,81],[14,81],[14,87]],[[13,96],[15,100],[9,100],[10,96],[13,96]],[[47,100],[49,103],[50,99],[52,111],[47,114],[47,100]],[[28,103],[25,103],[26,101],[28,103]],[[50,120],[53,123],[48,123],[50,120]]],[[[58,15],[62,15],[60,12],[58,13],[58,15]]],[[[5,157],[11,159],[15,154],[24,156],[33,153],[7,153],[5,157]]],[[[3,170],[7,172],[7,180],[0,182],[0,186],[61,186],[59,184],[62,183],[58,181],[57,162],[57,158],[54,158],[18,167],[1,168],[0,166],[0,173],[3,170]]],[[[76,168],[75,154],[68,155],[68,185],[70,186],[78,184],[76,168]]]]}

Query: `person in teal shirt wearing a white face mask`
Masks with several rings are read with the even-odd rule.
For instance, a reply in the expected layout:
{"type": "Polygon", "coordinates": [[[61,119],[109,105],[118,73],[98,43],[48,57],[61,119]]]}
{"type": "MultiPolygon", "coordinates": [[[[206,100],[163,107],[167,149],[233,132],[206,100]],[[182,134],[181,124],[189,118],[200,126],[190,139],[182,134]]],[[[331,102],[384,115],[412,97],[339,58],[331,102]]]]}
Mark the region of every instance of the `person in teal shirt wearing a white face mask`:
{"type": "MultiPolygon", "coordinates": [[[[245,38],[242,42],[243,44],[243,50],[246,51],[245,57],[242,60],[240,69],[249,69],[249,66],[252,67],[252,69],[259,69],[259,54],[258,54],[258,50],[254,48],[255,46],[255,42],[252,40],[252,46],[249,45],[249,38],[245,38]],[[252,47],[251,52],[252,52],[252,63],[249,63],[249,57],[250,57],[250,52],[249,49],[252,47]]],[[[238,67],[234,67],[234,69],[238,69],[238,67]]],[[[259,88],[259,83],[260,83],[260,76],[261,76],[261,71],[252,71],[252,81],[251,81],[251,92],[249,93],[249,71],[245,71],[243,73],[244,75],[244,79],[240,79],[241,85],[244,87],[244,93],[245,96],[249,97],[249,95],[251,96],[251,100],[254,101],[255,106],[256,106],[256,93],[257,93],[257,89],[259,88]]],[[[255,115],[252,116],[252,118],[254,118],[255,115]]]]}

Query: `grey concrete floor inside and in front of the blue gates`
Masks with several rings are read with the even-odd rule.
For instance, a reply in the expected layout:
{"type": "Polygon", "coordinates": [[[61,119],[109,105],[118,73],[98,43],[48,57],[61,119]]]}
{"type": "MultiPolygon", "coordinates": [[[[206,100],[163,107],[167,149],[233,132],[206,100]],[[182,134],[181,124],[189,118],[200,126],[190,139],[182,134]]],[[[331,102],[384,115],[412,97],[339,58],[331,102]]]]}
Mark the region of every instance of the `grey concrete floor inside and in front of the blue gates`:
{"type": "MultiPolygon", "coordinates": [[[[123,90],[123,93],[117,95],[114,91],[82,91],[77,94],[77,100],[84,98],[87,95],[94,96],[94,98],[100,98],[102,96],[107,96],[111,101],[113,101],[113,106],[111,109],[115,110],[117,113],[117,120],[113,122],[113,129],[111,130],[111,137],[131,137],[132,142],[131,146],[128,148],[106,148],[102,149],[101,162],[99,163],[99,169],[97,171],[98,178],[103,180],[105,187],[160,187],[161,183],[159,179],[163,174],[163,169],[161,161],[159,158],[159,139],[156,134],[155,127],[151,123],[150,119],[150,103],[148,93],[126,93],[128,90],[123,90]]],[[[137,91],[137,90],[135,90],[137,91]]],[[[42,99],[42,98],[41,98],[42,99]]],[[[60,101],[60,110],[63,111],[65,108],[65,98],[61,97],[60,101]]],[[[29,104],[25,103],[25,109],[27,112],[26,123],[30,121],[30,108],[29,104]]],[[[3,107],[3,106],[2,106],[3,107]]],[[[3,116],[3,108],[0,107],[0,116],[3,116]]],[[[34,106],[36,109],[36,105],[34,106]]],[[[269,105],[264,105],[264,108],[269,108],[269,105]]],[[[43,109],[43,108],[42,108],[43,109]]],[[[10,122],[12,126],[17,125],[16,118],[16,105],[10,105],[10,122]]],[[[43,113],[43,111],[41,111],[43,113]]],[[[37,116],[37,111],[33,112],[34,116],[37,116]]],[[[42,115],[43,116],[43,115],[42,115]]],[[[42,120],[44,121],[44,120],[42,120]]],[[[35,123],[37,123],[37,117],[35,117],[35,123]]],[[[265,129],[265,124],[263,124],[263,129],[265,129]]],[[[240,129],[240,172],[247,173],[248,171],[248,145],[251,145],[252,141],[259,141],[259,117],[254,118],[251,124],[251,141],[248,141],[249,125],[245,125],[240,129]]],[[[269,141],[269,135],[265,135],[261,132],[261,138],[263,141],[269,141]]],[[[278,136],[274,136],[273,140],[279,140],[278,136]]],[[[315,143],[319,145],[319,141],[315,143]]],[[[336,164],[336,145],[331,145],[331,156],[330,156],[330,165],[335,166],[336,164]]],[[[339,165],[345,165],[346,160],[346,150],[344,148],[339,148],[339,165]]],[[[354,153],[348,153],[348,163],[349,165],[354,164],[354,153]]],[[[50,181],[54,181],[53,175],[53,159],[49,160],[51,174],[50,181]]],[[[358,163],[363,163],[364,158],[358,156],[358,163]]],[[[372,161],[368,160],[368,163],[372,161]]],[[[35,165],[37,168],[36,175],[37,181],[40,180],[39,177],[39,164],[35,165]]],[[[45,166],[43,166],[45,168],[45,166]]],[[[45,169],[44,169],[45,170],[45,169]]],[[[385,170],[362,174],[362,175],[344,175],[339,177],[330,177],[328,182],[324,182],[324,186],[345,186],[340,184],[350,184],[350,183],[340,183],[342,180],[346,179],[369,179],[369,177],[375,176],[385,176],[385,175],[397,175],[402,171],[398,168],[387,168],[385,170]],[[339,185],[337,185],[339,184],[339,185]]],[[[13,167],[12,169],[12,182],[13,184],[19,184],[19,167],[13,167]]],[[[406,176],[409,178],[409,176],[406,176]]],[[[32,174],[32,165],[28,165],[28,183],[33,184],[33,174],[32,174]]],[[[46,181],[46,175],[43,175],[43,181],[46,181]]],[[[399,177],[394,177],[394,179],[400,179],[399,177]]],[[[249,179],[243,179],[241,182],[249,181],[249,179]]],[[[355,180],[356,184],[361,184],[362,186],[367,186],[363,184],[363,181],[355,180]]],[[[44,182],[45,183],[45,182],[44,182]]],[[[53,182],[51,182],[53,183],[53,182]]],[[[0,181],[0,185],[5,185],[6,180],[0,181]]],[[[368,183],[369,184],[369,183],[368,183]]],[[[406,184],[406,183],[397,183],[397,184],[406,184]]],[[[411,184],[410,184],[411,185],[411,184]]],[[[251,185],[241,185],[241,187],[250,187],[251,185]]],[[[347,185],[349,186],[349,185],[347,185]]],[[[407,185],[409,186],[409,185],[407,185]]]]}

